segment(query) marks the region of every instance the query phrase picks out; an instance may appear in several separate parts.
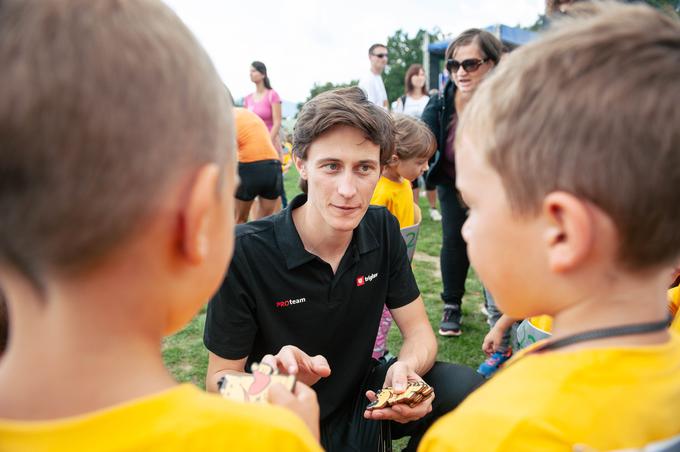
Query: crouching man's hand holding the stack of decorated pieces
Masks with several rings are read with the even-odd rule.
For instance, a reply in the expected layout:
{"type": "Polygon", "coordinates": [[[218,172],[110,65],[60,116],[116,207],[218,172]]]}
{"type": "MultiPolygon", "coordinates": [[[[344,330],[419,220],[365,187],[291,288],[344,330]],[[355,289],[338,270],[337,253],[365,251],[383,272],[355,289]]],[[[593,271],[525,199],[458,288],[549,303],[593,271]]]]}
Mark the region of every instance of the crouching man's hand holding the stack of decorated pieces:
{"type": "MultiPolygon", "coordinates": [[[[406,385],[409,381],[422,381],[418,374],[416,374],[407,363],[403,361],[396,361],[390,366],[385,375],[385,383],[383,383],[383,388],[391,386],[394,392],[401,394],[406,390],[406,385]]],[[[434,400],[435,394],[433,393],[431,397],[423,400],[421,403],[411,408],[410,406],[400,403],[393,405],[391,407],[365,410],[364,417],[366,419],[373,420],[391,420],[396,421],[401,424],[405,424],[411,421],[417,421],[418,419],[425,416],[427,413],[432,411],[432,401],[434,400]]],[[[370,402],[376,400],[375,392],[366,391],[366,398],[370,402]]]]}

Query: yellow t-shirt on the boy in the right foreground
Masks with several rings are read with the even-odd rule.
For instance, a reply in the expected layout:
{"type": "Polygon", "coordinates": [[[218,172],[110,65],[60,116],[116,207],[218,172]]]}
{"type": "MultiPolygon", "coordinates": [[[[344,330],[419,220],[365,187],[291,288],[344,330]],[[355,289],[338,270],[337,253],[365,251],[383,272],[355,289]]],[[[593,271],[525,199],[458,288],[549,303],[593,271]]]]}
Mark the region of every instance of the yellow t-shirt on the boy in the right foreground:
{"type": "Polygon", "coordinates": [[[523,356],[442,417],[420,452],[611,450],[680,439],[680,336],[523,356]]]}

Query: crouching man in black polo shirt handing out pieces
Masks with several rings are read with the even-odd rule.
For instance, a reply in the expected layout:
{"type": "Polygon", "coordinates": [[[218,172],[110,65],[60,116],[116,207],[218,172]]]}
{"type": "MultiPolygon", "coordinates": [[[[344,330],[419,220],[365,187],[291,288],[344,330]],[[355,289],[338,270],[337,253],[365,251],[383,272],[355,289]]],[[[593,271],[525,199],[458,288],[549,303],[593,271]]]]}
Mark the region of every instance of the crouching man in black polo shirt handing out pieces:
{"type": "Polygon", "coordinates": [[[302,109],[293,154],[305,194],[286,210],[236,230],[229,272],[208,306],[206,386],[265,361],[313,385],[328,450],[374,450],[379,423],[415,449],[427,427],[480,381],[435,363],[437,342],[397,220],[369,207],[394,148],[394,126],[358,88],[326,92],[302,109]],[[383,305],[403,337],[399,356],[371,358],[383,305]],[[374,391],[432,385],[411,408],[365,411],[374,391]],[[368,397],[368,398],[367,398],[368,397]]]}

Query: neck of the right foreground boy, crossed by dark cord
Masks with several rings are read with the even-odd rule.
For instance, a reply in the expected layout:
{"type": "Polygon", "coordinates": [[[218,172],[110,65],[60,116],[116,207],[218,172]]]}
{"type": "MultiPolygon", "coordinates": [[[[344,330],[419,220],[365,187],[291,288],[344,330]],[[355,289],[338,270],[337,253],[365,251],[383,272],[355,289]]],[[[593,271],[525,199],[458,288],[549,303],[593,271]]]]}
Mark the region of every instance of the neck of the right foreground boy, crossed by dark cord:
{"type": "MultiPolygon", "coordinates": [[[[617,287],[603,286],[599,293],[582,297],[579,303],[555,314],[553,338],[560,339],[587,331],[665,319],[668,316],[665,279],[667,277],[643,283],[631,279],[623,281],[617,287]]],[[[582,342],[565,349],[652,345],[666,342],[668,338],[668,332],[664,330],[582,342]]]]}

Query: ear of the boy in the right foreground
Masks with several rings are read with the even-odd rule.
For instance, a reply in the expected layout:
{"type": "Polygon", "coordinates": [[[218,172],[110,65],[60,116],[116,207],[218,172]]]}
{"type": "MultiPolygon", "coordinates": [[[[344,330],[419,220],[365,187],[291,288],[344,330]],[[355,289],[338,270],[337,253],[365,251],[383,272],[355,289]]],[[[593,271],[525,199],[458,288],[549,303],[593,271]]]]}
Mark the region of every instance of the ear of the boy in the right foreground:
{"type": "Polygon", "coordinates": [[[590,254],[595,237],[595,219],[585,201],[571,193],[549,193],[543,200],[542,215],[547,228],[544,238],[548,265],[556,273],[566,272],[590,254]]]}

